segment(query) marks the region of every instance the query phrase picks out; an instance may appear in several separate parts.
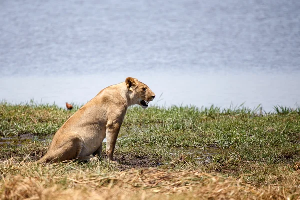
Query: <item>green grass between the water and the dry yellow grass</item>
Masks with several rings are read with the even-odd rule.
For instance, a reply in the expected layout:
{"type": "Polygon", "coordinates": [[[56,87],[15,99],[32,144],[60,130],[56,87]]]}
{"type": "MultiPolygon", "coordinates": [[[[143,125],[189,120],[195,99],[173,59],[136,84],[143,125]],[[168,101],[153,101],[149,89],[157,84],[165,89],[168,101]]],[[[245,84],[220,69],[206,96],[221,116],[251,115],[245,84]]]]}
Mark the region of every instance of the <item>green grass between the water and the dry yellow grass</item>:
{"type": "MultiPolygon", "coordinates": [[[[2,102],[0,136],[30,133],[40,138],[54,134],[79,107],[67,111],[56,105],[2,102]]],[[[115,156],[120,166],[107,170],[200,168],[235,177],[251,174],[245,179],[255,184],[276,181],[273,174],[279,168],[292,172],[300,162],[299,110],[275,106],[274,112],[265,113],[260,106],[250,109],[243,105],[154,106],[145,110],[131,107],[116,144],[115,156]]],[[[32,138],[18,146],[0,144],[0,160],[17,157],[21,161],[27,155],[27,160],[37,160],[49,143],[49,139],[32,138]]],[[[105,167],[103,161],[102,169],[105,167]]]]}

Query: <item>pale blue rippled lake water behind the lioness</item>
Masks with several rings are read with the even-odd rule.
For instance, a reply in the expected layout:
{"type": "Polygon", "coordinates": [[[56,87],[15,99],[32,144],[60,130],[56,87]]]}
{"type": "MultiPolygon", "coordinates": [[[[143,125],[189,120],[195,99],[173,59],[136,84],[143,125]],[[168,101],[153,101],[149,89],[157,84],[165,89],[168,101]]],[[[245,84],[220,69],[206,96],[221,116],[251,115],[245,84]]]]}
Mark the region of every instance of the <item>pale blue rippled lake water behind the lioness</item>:
{"type": "Polygon", "coordinates": [[[299,0],[2,0],[0,99],[83,104],[133,76],[157,105],[295,107],[299,10],[299,0]]]}

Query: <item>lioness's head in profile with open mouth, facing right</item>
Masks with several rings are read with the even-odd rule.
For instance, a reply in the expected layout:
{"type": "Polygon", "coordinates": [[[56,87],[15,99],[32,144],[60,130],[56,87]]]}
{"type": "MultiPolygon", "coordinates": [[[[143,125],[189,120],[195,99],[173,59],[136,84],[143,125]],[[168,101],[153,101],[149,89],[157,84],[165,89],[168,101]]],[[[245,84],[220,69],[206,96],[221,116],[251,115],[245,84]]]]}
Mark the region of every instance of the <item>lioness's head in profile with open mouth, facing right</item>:
{"type": "Polygon", "coordinates": [[[144,109],[147,108],[149,101],[155,98],[154,92],[136,78],[127,77],[125,82],[129,90],[131,104],[138,104],[144,109]]]}

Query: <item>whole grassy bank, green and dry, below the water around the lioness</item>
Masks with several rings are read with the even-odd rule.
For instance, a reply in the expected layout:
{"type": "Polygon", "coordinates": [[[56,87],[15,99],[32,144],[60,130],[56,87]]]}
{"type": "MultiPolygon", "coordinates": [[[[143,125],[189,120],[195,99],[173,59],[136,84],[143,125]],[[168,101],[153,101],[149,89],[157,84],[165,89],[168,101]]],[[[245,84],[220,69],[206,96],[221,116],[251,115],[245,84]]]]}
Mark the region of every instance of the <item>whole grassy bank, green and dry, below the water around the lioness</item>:
{"type": "Polygon", "coordinates": [[[54,190],[86,198],[300,197],[299,108],[132,107],[117,141],[118,164],[28,165],[76,109],[0,104],[3,198],[52,198],[54,190]]]}

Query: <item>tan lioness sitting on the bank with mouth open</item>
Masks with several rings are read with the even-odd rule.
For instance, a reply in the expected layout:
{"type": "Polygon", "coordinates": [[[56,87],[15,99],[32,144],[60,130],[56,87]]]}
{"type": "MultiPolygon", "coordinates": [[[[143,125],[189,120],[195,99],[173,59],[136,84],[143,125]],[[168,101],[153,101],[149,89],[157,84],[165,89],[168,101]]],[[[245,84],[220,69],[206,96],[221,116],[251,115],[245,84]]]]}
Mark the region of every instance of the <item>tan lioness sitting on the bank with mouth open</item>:
{"type": "Polygon", "coordinates": [[[154,98],[147,85],[131,77],[103,89],[59,128],[49,151],[38,162],[98,159],[91,155],[101,157],[105,137],[107,159],[114,161],[116,139],[128,106],[138,104],[147,108],[154,98]]]}

